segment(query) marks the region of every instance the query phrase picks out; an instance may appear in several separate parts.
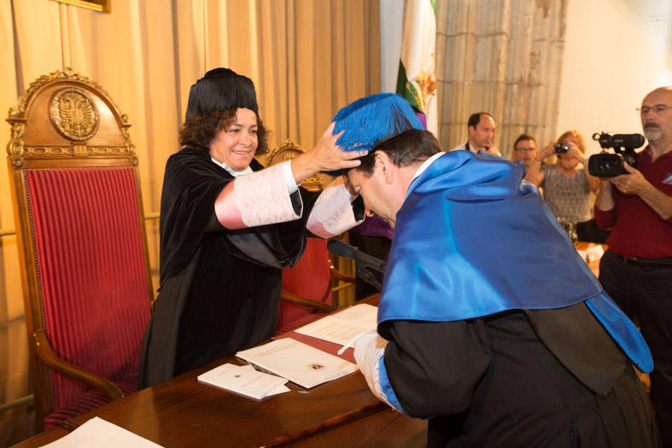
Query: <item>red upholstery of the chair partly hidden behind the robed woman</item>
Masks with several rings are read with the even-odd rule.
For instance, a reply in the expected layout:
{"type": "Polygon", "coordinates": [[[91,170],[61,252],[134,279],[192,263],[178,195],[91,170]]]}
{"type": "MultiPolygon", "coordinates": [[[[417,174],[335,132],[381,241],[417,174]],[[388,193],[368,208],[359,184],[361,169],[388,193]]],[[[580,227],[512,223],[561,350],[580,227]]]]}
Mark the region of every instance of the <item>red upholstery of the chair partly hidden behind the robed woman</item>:
{"type": "MultiPolygon", "coordinates": [[[[306,250],[293,267],[282,270],[282,290],[296,296],[332,304],[331,271],[329,269],[327,240],[308,238],[306,250]]],[[[287,328],[292,322],[302,321],[312,308],[282,300],[278,328],[287,328]]]]}

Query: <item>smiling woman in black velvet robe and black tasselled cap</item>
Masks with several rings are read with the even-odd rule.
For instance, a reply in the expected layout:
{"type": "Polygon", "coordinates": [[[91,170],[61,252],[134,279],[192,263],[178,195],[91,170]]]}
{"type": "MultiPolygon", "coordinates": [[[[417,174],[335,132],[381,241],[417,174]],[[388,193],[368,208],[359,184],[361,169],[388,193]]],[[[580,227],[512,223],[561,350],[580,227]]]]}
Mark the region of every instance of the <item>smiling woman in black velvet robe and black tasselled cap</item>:
{"type": "Polygon", "coordinates": [[[320,206],[315,193],[296,187],[319,171],[359,164],[351,159],[362,154],[341,152],[332,129],[312,150],[263,169],[254,159],[267,148],[252,81],[215,69],[192,86],[183,148],[165,169],[161,284],[142,343],[140,388],[271,337],[282,268],[298,261],[306,234],[347,230],[330,227],[329,208],[356,224],[342,182],[331,194],[345,208],[333,197],[320,206]],[[321,212],[311,216],[313,209],[321,212]]]}

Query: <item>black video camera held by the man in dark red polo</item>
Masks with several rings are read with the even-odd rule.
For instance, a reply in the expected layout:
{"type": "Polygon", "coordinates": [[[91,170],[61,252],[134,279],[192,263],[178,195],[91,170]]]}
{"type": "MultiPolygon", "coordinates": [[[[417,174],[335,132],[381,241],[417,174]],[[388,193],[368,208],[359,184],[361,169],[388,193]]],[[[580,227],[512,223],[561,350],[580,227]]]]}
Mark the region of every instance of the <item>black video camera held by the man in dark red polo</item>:
{"type": "Polygon", "coordinates": [[[637,159],[635,148],[644,144],[642,134],[614,134],[606,132],[593,134],[593,140],[599,142],[602,148],[614,148],[616,154],[594,154],[588,159],[588,172],[595,177],[614,177],[627,174],[623,162],[634,167],[637,159]]]}

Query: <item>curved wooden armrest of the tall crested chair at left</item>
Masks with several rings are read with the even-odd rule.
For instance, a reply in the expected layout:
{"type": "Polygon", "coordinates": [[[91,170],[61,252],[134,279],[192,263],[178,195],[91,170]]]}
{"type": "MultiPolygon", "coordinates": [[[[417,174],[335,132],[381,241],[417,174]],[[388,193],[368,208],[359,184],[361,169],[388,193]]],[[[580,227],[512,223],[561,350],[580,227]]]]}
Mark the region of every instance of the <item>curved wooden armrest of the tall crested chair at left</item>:
{"type": "Polygon", "coordinates": [[[34,332],[33,338],[36,355],[38,355],[38,357],[40,357],[40,359],[42,359],[42,361],[44,361],[44,363],[52,369],[62,373],[63,375],[67,375],[73,379],[76,379],[77,381],[82,382],[91,388],[99,390],[111,402],[119,400],[120,398],[124,398],[124,393],[122,390],[109,379],[101,377],[100,375],[96,375],[95,373],[78,367],[77,365],[71,364],[58,356],[49,344],[44,330],[37,330],[34,332]]]}

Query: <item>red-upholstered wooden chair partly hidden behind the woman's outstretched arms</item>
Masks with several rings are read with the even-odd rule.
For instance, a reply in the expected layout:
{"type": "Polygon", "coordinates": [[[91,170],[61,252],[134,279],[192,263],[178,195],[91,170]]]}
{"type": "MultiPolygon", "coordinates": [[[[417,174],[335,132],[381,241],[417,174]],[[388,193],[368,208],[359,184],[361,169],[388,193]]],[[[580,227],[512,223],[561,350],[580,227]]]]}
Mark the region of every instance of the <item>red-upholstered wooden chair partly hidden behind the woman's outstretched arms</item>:
{"type": "MultiPolygon", "coordinates": [[[[276,165],[302,152],[298,144],[286,140],[269,152],[266,164],[276,165]]],[[[321,191],[329,181],[331,177],[318,173],[308,177],[301,186],[310,191],[321,191]]],[[[335,269],[327,251],[327,240],[308,238],[306,250],[298,263],[282,271],[278,332],[293,330],[336,310],[333,293],[343,287],[334,285],[338,281],[353,284],[355,279],[335,269]]]]}

